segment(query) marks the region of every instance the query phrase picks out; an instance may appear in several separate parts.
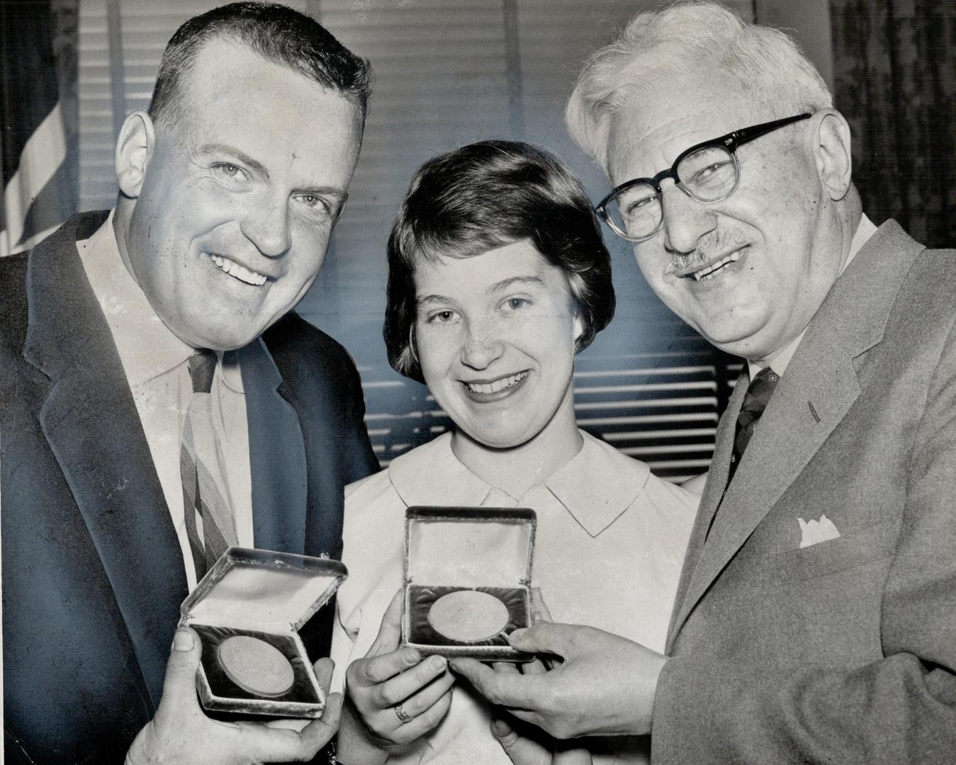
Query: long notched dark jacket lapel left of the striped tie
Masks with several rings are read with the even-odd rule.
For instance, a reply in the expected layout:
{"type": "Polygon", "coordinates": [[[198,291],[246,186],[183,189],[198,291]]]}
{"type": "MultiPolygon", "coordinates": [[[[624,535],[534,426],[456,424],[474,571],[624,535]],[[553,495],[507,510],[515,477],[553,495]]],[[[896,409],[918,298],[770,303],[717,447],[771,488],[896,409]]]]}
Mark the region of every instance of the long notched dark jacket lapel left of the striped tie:
{"type": "Polygon", "coordinates": [[[119,354],[76,252],[77,236],[89,236],[102,220],[74,219],[33,249],[24,357],[50,377],[40,424],[96,545],[155,705],[186,595],[185,571],[119,354]]]}

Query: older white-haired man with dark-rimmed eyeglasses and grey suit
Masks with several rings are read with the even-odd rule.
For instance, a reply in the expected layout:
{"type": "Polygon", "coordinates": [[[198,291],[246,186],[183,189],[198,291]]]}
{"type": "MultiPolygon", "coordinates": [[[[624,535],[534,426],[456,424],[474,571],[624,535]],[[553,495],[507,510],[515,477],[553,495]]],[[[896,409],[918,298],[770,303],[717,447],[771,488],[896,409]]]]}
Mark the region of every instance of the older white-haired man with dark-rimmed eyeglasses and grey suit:
{"type": "Polygon", "coordinates": [[[452,667],[559,738],[650,732],[655,763],[956,761],[956,253],[862,214],[813,65],[715,4],[635,17],[568,118],[597,214],[747,364],[667,655],[542,624],[511,643],[547,673],[452,667]]]}

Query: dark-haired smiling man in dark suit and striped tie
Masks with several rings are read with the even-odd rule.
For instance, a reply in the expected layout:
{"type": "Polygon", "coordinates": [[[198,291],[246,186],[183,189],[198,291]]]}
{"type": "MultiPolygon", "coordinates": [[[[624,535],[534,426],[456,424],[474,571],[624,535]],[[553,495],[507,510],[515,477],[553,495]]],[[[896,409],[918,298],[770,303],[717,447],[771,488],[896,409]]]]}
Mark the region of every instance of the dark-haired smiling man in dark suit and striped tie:
{"type": "MultiPolygon", "coordinates": [[[[196,17],[122,127],[116,208],[0,261],[8,761],[120,762],[134,738],[131,763],[302,759],[335,732],[336,699],[301,732],[200,710],[200,648],[176,625],[213,521],[197,534],[181,459],[208,392],[222,541],[340,555],[342,487],[378,465],[354,364],[293,308],[369,88],[367,62],[295,11],[196,17]]],[[[314,656],[330,629],[325,613],[302,630],[314,656]]]]}

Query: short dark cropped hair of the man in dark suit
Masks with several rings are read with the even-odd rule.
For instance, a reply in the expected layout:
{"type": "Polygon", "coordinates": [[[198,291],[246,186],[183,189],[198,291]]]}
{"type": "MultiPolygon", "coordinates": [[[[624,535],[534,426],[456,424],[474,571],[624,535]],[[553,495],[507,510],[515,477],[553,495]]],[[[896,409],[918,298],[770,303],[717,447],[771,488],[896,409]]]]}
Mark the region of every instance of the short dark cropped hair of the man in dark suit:
{"type": "Polygon", "coordinates": [[[243,43],[263,58],[341,92],[361,110],[372,92],[372,67],[332,36],[315,19],[277,3],[230,3],[183,24],[163,51],[148,114],[156,122],[181,118],[183,79],[192,71],[203,44],[215,37],[243,43]]]}

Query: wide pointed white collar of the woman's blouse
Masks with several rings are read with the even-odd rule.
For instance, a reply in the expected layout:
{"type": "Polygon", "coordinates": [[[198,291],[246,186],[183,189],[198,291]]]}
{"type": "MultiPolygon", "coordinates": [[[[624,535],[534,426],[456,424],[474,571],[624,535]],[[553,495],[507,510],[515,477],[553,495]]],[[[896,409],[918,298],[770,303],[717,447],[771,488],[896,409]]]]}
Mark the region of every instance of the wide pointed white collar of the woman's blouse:
{"type": "MultiPolygon", "coordinates": [[[[650,468],[581,431],[584,443],[575,457],[544,482],[551,493],[592,537],[616,521],[643,491],[650,468]]],[[[475,476],[451,451],[446,433],[396,457],[388,478],[406,505],[479,507],[500,490],[475,476]]],[[[534,486],[517,499],[531,499],[534,486]]]]}

